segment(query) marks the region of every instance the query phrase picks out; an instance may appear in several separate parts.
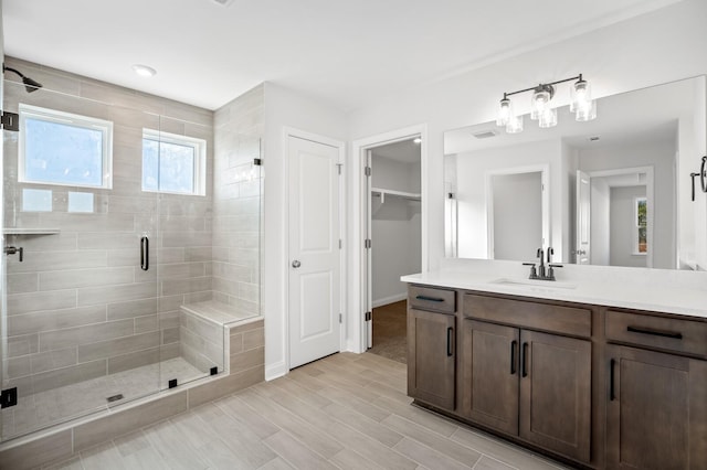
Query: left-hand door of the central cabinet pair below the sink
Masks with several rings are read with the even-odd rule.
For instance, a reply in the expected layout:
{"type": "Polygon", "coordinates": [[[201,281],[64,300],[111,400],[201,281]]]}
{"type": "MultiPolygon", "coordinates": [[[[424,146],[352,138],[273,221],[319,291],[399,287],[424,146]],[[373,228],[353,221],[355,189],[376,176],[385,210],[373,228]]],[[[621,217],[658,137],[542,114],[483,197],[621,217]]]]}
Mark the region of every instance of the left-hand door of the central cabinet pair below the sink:
{"type": "Polygon", "coordinates": [[[467,319],[461,335],[462,415],[517,436],[519,330],[467,319]]]}

